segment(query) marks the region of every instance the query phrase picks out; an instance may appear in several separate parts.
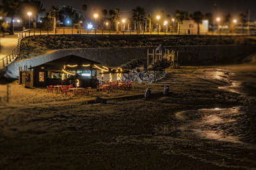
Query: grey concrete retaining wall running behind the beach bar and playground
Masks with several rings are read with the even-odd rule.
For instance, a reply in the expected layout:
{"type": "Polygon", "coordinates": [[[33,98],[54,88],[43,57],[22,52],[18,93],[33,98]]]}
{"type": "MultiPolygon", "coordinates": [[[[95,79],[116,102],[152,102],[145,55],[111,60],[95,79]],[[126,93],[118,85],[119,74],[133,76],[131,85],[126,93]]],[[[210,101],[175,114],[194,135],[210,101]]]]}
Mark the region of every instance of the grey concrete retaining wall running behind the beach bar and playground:
{"type": "MultiPolygon", "coordinates": [[[[256,52],[256,46],[252,45],[209,45],[209,46],[168,46],[165,48],[179,51],[181,64],[215,64],[230,63],[256,52]]],[[[116,67],[132,59],[140,59],[146,62],[147,49],[150,52],[156,47],[131,47],[131,48],[77,48],[57,50],[47,55],[33,59],[22,60],[8,66],[6,77],[17,78],[19,67],[33,67],[51,60],[60,59],[67,55],[78,55],[86,59],[95,60],[104,66],[116,67]]]]}

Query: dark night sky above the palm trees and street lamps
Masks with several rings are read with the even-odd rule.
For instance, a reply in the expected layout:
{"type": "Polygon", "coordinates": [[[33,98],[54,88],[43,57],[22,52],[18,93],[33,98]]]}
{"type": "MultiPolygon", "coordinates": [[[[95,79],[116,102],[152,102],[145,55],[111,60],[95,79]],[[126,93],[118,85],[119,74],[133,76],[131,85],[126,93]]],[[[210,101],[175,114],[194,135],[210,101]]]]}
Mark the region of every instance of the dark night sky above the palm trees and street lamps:
{"type": "MultiPolygon", "coordinates": [[[[51,5],[70,5],[81,11],[82,4],[87,4],[88,15],[90,15],[92,11],[101,11],[105,8],[107,10],[120,8],[123,15],[128,15],[131,9],[138,5],[145,8],[147,13],[151,12],[152,15],[156,15],[160,10],[164,10],[164,15],[172,15],[175,10],[186,10],[189,12],[195,10],[203,12],[213,11],[213,0],[42,0],[42,3],[47,10],[51,5]]],[[[251,20],[256,20],[256,0],[218,0],[217,4],[218,10],[215,10],[216,15],[227,15],[227,13],[230,12],[233,17],[236,17],[239,13],[246,13],[246,11],[250,9],[251,20]]]]}

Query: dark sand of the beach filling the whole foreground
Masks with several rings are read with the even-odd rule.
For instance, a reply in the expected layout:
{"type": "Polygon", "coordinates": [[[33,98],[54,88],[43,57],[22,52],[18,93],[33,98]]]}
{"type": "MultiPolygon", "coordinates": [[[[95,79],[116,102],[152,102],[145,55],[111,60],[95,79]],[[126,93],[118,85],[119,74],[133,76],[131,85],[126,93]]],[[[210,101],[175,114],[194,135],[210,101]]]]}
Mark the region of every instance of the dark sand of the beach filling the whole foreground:
{"type": "Polygon", "coordinates": [[[168,72],[150,85],[156,94],[149,100],[111,99],[143,94],[148,85],[104,94],[107,104],[45,89],[23,90],[28,96],[13,92],[12,104],[0,104],[0,168],[256,168],[255,66],[168,72]],[[168,96],[159,94],[164,85],[170,85],[168,96]]]}

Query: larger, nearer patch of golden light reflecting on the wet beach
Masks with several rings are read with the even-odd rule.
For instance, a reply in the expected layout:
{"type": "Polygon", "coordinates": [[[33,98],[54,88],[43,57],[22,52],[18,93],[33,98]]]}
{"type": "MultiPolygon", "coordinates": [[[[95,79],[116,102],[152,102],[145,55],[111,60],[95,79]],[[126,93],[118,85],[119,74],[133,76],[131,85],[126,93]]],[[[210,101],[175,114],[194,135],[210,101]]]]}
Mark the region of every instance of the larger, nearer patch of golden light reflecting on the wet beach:
{"type": "Polygon", "coordinates": [[[241,143],[239,138],[230,133],[234,128],[232,122],[236,122],[239,108],[211,108],[200,110],[188,110],[176,113],[176,118],[186,122],[181,129],[185,132],[193,132],[198,138],[214,139],[232,143],[241,143]]]}

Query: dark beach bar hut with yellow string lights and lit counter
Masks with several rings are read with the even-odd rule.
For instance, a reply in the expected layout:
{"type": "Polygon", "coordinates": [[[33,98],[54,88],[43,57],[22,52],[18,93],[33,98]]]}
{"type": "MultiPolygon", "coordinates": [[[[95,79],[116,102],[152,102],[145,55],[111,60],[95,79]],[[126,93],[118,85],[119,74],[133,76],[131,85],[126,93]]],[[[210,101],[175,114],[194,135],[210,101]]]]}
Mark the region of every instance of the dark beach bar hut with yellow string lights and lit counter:
{"type": "Polygon", "coordinates": [[[29,87],[49,85],[73,85],[73,87],[97,87],[97,64],[93,60],[77,55],[30,67],[30,71],[20,71],[19,82],[29,87]],[[33,81],[28,83],[28,81],[33,81]]]}

